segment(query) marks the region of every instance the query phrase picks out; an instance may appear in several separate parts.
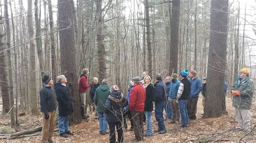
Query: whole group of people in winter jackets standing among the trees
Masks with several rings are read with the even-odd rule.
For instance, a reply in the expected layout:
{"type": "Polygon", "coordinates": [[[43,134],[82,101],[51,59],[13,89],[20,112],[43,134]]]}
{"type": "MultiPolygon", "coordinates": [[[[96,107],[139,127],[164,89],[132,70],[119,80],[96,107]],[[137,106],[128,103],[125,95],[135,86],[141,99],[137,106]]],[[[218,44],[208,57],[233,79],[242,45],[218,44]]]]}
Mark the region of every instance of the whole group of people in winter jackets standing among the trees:
{"type": "MultiPolygon", "coordinates": [[[[126,96],[120,92],[117,85],[110,87],[106,79],[102,80],[102,84],[99,85],[98,78],[93,77],[93,83],[89,84],[87,82],[88,75],[89,70],[85,68],[79,78],[81,116],[83,119],[90,117],[84,114],[84,107],[86,91],[91,88],[90,102],[92,107],[97,107],[99,133],[102,135],[110,134],[110,142],[116,142],[116,131],[118,133],[118,142],[123,142],[123,128],[125,131],[128,130],[126,116],[129,117],[131,122],[130,131],[134,131],[134,141],[142,141],[144,137],[150,137],[153,133],[151,123],[153,110],[154,116],[158,121],[158,128],[154,132],[164,134],[167,131],[164,123],[164,110],[166,112],[166,120],[170,124],[181,123],[180,127],[186,127],[188,120],[197,119],[197,102],[202,89],[204,98],[207,98],[206,78],[203,78],[204,84],[202,86],[195,70],[191,70],[188,73],[188,70],[184,69],[179,75],[173,73],[171,76],[166,76],[164,81],[162,75],[157,73],[154,77],[156,78],[156,83],[154,84],[151,77],[144,71],[142,78],[139,76],[133,77],[128,83],[126,96]],[[146,121],[145,132],[144,121],[146,121]],[[109,126],[109,131],[107,131],[107,126],[109,126]]],[[[231,87],[238,127],[246,128],[247,130],[250,129],[250,108],[254,92],[254,84],[249,75],[249,70],[242,69],[241,77],[231,87]]],[[[45,84],[40,91],[41,112],[43,112],[42,141],[51,142],[55,127],[56,98],[51,90],[51,85],[53,85],[52,78],[45,75],[42,81],[45,84]]],[[[71,115],[74,108],[66,82],[65,76],[60,75],[57,77],[57,83],[55,84],[59,103],[59,135],[64,138],[73,135],[69,130],[69,115],[71,115]]],[[[225,92],[226,89],[227,84],[225,83],[225,92]]]]}

